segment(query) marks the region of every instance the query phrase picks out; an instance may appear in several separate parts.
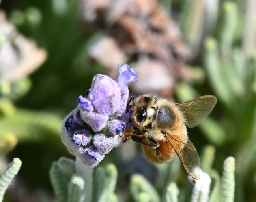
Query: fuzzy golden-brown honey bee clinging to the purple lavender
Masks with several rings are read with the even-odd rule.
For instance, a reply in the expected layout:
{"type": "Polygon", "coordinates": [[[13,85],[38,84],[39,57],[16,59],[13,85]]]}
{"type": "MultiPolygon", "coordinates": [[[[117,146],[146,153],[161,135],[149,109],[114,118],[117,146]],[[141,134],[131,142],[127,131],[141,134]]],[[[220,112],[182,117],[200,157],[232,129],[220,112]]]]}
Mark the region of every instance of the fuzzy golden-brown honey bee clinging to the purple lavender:
{"type": "Polygon", "coordinates": [[[132,97],[127,110],[131,110],[133,130],[126,130],[123,142],[131,138],[144,148],[146,157],[153,162],[167,162],[176,155],[193,179],[200,177],[200,159],[187,135],[213,110],[217,98],[204,95],[182,103],[173,104],[166,99],[141,95],[132,97]],[[132,105],[130,105],[132,101],[132,105]]]}

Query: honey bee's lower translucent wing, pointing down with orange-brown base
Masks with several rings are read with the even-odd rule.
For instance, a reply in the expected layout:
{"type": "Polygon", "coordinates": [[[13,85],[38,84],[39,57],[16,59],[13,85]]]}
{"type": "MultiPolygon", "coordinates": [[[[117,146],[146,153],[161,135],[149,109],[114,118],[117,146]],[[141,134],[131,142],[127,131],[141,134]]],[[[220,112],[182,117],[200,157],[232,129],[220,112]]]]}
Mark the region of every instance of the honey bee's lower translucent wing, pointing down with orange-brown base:
{"type": "Polygon", "coordinates": [[[177,135],[166,135],[166,138],[172,145],[176,154],[179,156],[181,163],[187,173],[193,179],[199,179],[200,177],[200,159],[196,148],[193,143],[187,137],[185,141],[181,140],[177,135]]]}

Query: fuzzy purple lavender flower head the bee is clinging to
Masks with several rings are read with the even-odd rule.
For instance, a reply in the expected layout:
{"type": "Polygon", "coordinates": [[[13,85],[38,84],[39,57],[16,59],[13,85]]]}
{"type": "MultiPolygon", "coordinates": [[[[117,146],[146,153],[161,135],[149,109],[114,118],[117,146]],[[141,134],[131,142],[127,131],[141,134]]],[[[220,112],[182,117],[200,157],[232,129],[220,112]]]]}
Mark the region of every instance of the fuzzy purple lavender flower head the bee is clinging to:
{"type": "Polygon", "coordinates": [[[118,65],[116,81],[102,74],[93,78],[90,90],[78,97],[78,106],[65,118],[62,141],[74,156],[95,167],[114,147],[125,130],[130,112],[125,112],[129,90],[137,74],[127,64],[118,65]]]}

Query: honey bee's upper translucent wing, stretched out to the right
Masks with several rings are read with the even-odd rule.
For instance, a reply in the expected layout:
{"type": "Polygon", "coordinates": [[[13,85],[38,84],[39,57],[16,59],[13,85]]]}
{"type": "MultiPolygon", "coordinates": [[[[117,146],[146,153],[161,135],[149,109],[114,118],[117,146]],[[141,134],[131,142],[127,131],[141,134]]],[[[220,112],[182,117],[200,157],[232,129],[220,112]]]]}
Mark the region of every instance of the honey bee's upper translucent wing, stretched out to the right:
{"type": "Polygon", "coordinates": [[[217,103],[214,95],[204,95],[193,100],[174,104],[181,112],[189,128],[196,127],[203,118],[208,116],[217,103]]]}

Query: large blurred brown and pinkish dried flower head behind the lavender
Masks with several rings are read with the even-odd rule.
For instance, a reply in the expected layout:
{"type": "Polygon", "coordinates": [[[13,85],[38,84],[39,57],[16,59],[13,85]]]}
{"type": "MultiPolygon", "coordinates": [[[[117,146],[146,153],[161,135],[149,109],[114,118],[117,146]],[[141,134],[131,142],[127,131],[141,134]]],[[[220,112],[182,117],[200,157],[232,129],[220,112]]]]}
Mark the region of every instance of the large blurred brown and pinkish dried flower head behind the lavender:
{"type": "Polygon", "coordinates": [[[112,77],[117,64],[129,60],[138,73],[133,93],[171,97],[177,80],[191,79],[189,47],[155,0],[81,0],[80,8],[86,30],[97,27],[109,33],[90,46],[90,57],[112,77]]]}

